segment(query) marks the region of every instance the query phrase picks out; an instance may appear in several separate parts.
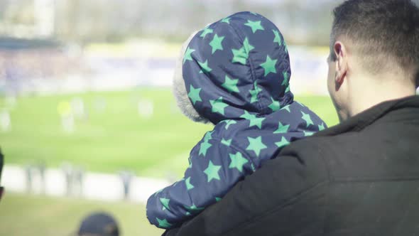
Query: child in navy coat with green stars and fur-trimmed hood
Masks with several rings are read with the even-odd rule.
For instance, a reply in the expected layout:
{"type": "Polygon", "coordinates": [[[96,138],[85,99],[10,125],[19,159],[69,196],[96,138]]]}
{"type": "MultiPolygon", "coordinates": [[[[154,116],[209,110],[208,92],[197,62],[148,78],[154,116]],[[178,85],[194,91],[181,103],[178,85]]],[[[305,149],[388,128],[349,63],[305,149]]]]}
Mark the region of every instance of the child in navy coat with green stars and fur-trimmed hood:
{"type": "Polygon", "coordinates": [[[190,152],[185,177],[148,199],[148,220],[165,229],[216,203],[290,141],[325,128],[293,101],[287,47],[263,16],[223,18],[196,33],[183,51],[174,82],[178,104],[192,120],[215,127],[190,152]]]}

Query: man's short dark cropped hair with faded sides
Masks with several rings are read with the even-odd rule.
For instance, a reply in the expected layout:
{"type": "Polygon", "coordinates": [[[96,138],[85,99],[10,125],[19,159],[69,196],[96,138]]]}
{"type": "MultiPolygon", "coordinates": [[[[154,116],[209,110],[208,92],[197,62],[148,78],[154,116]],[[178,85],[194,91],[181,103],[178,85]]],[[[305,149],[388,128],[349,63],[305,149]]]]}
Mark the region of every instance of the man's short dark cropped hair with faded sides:
{"type": "Polygon", "coordinates": [[[349,0],[334,9],[330,59],[333,45],[349,40],[361,55],[364,68],[376,73],[390,63],[403,70],[419,68],[419,9],[410,0],[349,0]]]}

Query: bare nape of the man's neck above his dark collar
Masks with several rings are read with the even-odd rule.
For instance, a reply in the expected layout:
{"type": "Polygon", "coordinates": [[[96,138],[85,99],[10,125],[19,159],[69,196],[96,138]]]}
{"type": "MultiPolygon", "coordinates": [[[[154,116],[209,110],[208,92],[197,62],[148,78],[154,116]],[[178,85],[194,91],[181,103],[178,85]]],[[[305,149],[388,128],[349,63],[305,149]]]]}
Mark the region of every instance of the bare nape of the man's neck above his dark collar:
{"type": "MultiPolygon", "coordinates": [[[[403,78],[400,78],[403,80],[403,78]]],[[[352,87],[352,96],[349,104],[349,117],[364,112],[376,104],[390,100],[398,100],[403,97],[415,95],[415,85],[406,81],[397,81],[392,78],[358,78],[360,83],[352,87]],[[386,82],[382,82],[386,81],[386,82]]]]}

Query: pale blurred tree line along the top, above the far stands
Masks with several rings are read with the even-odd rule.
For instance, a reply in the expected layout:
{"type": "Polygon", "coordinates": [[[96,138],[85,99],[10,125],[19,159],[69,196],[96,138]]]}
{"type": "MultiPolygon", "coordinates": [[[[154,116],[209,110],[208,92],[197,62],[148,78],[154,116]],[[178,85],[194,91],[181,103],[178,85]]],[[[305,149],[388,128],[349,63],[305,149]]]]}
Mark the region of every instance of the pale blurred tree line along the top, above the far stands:
{"type": "Polygon", "coordinates": [[[254,11],[276,23],[288,43],[327,45],[331,11],[343,0],[1,0],[0,27],[36,23],[36,1],[53,2],[52,37],[70,43],[178,42],[229,14],[254,11]]]}

